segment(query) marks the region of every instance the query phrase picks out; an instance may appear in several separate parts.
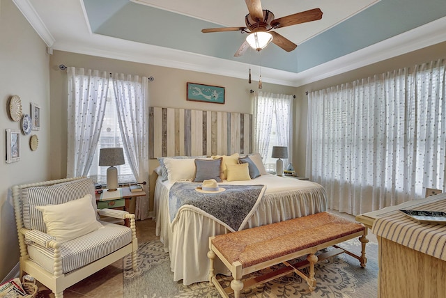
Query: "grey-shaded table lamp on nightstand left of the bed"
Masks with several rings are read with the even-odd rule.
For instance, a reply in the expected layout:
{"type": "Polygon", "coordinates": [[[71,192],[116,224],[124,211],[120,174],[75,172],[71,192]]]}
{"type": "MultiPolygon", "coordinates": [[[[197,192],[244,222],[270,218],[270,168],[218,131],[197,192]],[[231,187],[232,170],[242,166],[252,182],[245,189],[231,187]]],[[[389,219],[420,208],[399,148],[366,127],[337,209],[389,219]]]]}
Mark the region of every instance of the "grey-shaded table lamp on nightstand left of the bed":
{"type": "Polygon", "coordinates": [[[118,169],[115,166],[125,164],[123,148],[102,148],[99,152],[99,165],[107,168],[108,191],[118,190],[118,169]]]}

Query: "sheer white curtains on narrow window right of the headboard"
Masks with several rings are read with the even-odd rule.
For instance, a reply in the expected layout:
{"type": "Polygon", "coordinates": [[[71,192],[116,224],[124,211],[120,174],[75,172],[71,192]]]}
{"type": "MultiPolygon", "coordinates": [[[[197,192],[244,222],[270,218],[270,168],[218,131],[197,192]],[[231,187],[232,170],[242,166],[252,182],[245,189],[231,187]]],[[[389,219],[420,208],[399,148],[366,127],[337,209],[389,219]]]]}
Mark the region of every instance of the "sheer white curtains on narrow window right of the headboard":
{"type": "Polygon", "coordinates": [[[254,93],[254,150],[263,157],[263,163],[270,158],[272,146],[288,147],[284,165],[293,160],[292,123],[292,95],[254,93]]]}

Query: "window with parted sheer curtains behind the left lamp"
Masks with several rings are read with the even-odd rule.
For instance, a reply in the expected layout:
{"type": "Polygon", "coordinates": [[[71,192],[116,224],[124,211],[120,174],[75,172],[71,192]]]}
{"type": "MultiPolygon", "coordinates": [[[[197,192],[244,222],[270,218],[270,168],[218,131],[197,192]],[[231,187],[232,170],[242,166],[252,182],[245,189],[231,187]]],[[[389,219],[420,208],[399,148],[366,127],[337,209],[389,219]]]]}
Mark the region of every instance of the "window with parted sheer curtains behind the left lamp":
{"type": "MultiPolygon", "coordinates": [[[[125,164],[118,182],[148,180],[148,85],[146,77],[67,68],[67,177],[89,176],[105,184],[100,148],[121,147],[125,164]]],[[[143,186],[148,194],[148,185],[143,186]]],[[[148,196],[138,197],[137,219],[148,217],[148,196]]]]}

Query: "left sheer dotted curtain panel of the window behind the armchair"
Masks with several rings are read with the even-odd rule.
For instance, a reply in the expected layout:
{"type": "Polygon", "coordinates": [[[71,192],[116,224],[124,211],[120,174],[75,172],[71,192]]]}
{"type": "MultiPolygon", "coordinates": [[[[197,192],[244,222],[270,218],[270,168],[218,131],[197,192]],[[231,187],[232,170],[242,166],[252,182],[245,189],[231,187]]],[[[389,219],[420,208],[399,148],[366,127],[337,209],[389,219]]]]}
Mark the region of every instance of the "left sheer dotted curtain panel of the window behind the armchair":
{"type": "Polygon", "coordinates": [[[98,144],[109,86],[109,74],[67,68],[67,177],[86,176],[98,144]]]}

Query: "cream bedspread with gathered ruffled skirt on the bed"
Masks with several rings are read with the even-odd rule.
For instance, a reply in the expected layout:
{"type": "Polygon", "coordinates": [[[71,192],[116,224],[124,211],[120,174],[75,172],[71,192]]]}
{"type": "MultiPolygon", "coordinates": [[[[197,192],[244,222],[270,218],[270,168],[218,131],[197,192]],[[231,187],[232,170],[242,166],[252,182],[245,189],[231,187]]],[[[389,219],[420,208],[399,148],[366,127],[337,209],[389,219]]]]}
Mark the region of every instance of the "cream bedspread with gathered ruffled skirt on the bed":
{"type": "MultiPolygon", "coordinates": [[[[169,220],[169,188],[173,182],[157,179],[155,186],[156,234],[169,251],[174,281],[184,285],[208,281],[208,238],[229,233],[224,226],[193,209],[183,208],[171,226],[169,220]]],[[[303,217],[327,210],[325,189],[315,182],[276,175],[261,175],[251,181],[232,181],[219,185],[266,185],[265,195],[249,219],[247,228],[303,217]]],[[[229,274],[215,260],[215,272],[229,274]]]]}

